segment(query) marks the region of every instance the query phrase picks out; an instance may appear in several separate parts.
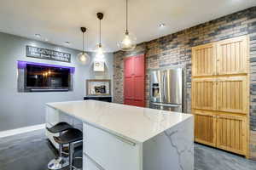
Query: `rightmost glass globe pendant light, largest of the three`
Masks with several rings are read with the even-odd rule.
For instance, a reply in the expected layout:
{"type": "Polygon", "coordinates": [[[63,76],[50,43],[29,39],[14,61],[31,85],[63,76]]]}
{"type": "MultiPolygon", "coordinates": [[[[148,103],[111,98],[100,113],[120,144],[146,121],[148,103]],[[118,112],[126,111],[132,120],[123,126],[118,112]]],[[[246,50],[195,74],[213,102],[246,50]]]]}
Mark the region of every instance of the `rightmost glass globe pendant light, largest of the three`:
{"type": "Polygon", "coordinates": [[[128,0],[126,0],[126,29],[125,29],[125,37],[118,42],[118,47],[122,51],[131,51],[136,48],[137,38],[128,31],[128,0]]]}

